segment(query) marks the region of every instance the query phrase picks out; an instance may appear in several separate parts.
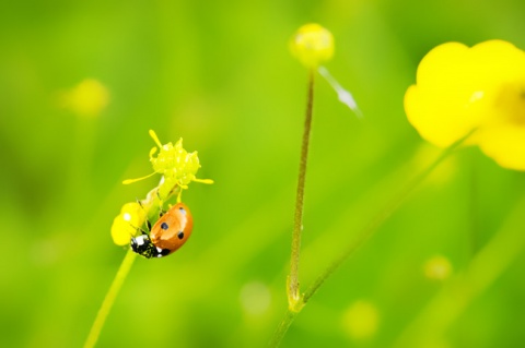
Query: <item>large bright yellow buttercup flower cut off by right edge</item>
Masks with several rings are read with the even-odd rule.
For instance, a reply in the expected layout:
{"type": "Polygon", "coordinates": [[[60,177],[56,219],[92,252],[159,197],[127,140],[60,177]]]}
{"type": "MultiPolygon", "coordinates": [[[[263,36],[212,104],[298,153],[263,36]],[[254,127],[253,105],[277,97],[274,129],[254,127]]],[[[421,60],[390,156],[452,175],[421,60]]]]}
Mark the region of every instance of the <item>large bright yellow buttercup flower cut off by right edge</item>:
{"type": "Polygon", "coordinates": [[[446,147],[476,129],[467,144],[525,170],[525,52],[512,44],[435,47],[418,67],[405,110],[427,141],[446,147]]]}

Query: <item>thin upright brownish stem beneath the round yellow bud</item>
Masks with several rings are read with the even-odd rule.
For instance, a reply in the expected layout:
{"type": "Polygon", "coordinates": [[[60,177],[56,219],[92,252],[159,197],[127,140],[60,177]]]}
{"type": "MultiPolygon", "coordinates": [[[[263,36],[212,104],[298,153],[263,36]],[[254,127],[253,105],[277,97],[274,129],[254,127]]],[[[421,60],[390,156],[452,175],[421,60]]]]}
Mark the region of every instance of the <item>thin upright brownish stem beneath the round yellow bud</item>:
{"type": "MultiPolygon", "coordinates": [[[[299,290],[299,261],[301,253],[301,232],[303,230],[304,183],[306,179],[306,165],[308,160],[310,134],[312,130],[312,111],[314,106],[314,70],[310,71],[308,95],[304,119],[303,142],[301,146],[301,160],[299,165],[298,194],[295,197],[295,215],[292,232],[292,254],[290,260],[290,276],[288,279],[288,304],[295,309],[301,301],[299,290]]],[[[288,329],[288,328],[287,328],[288,329]]]]}

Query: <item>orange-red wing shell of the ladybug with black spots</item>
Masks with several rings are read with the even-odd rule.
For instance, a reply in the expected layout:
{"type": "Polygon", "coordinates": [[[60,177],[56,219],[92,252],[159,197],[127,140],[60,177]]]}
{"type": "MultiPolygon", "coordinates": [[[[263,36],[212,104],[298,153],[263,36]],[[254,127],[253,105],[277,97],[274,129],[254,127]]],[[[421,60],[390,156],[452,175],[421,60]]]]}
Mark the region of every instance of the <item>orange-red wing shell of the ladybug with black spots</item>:
{"type": "Polygon", "coordinates": [[[194,228],[194,218],[188,207],[177,203],[170,208],[151,229],[153,245],[174,252],[188,240],[194,228]]]}

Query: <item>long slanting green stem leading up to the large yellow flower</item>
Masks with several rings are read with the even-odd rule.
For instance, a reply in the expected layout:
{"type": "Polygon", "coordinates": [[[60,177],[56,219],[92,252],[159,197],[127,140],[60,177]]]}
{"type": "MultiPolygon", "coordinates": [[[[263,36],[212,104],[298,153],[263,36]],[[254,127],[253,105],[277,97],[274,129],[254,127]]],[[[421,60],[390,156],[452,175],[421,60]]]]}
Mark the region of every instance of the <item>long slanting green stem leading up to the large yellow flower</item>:
{"type": "MultiPolygon", "coordinates": [[[[310,286],[302,297],[299,298],[298,303],[293,308],[289,308],[284,317],[282,319],[279,327],[277,328],[273,338],[270,343],[270,347],[279,347],[282,338],[288,332],[291,323],[295,319],[296,314],[302,310],[306,302],[317,292],[320,286],[325,283],[326,279],[337,269],[341,264],[353,254],[353,252],[361,247],[366,240],[369,240],[377,228],[399,207],[399,205],[407,199],[407,196],[417,188],[419,184],[427,179],[427,177],[445,159],[447,158],[457,147],[459,147],[465,140],[467,140],[476,130],[471,130],[464,137],[459,139],[448,147],[446,147],[441,155],[423,171],[417,175],[411,181],[405,185],[405,189],[400,191],[394,199],[387,204],[380,213],[363,228],[359,233],[358,238],[350,243],[350,245],[341,253],[328,267],[323,271],[319,276],[314,280],[312,286],[310,286]]],[[[299,255],[298,255],[299,256],[299,255]]],[[[293,261],[293,259],[292,259],[293,261]]]]}

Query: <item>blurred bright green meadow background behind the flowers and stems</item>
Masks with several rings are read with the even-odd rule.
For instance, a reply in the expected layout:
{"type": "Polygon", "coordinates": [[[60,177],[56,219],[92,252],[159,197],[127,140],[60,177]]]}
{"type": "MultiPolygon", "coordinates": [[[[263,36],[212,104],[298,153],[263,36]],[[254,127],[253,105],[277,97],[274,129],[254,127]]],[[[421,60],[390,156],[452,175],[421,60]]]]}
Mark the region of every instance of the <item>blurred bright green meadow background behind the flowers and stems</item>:
{"type": "MultiPolygon", "coordinates": [[[[327,68],[365,116],[317,81],[304,288],[438,156],[402,109],[420,59],[448,40],[525,48],[524,13],[521,0],[2,1],[0,346],[83,344],[125,254],[113,218],[159,179],[121,184],[151,171],[149,129],[164,143],[183,136],[215,184],[185,192],[190,241],[137,260],[98,347],[265,346],[287,308],[306,96],[294,31],[332,32],[327,68]],[[89,77],[109,91],[107,108],[61,108],[58,96],[89,77]]],[[[325,284],[282,346],[521,347],[524,179],[462,149],[325,284]],[[448,280],[425,277],[434,255],[452,264],[448,280]]]]}

